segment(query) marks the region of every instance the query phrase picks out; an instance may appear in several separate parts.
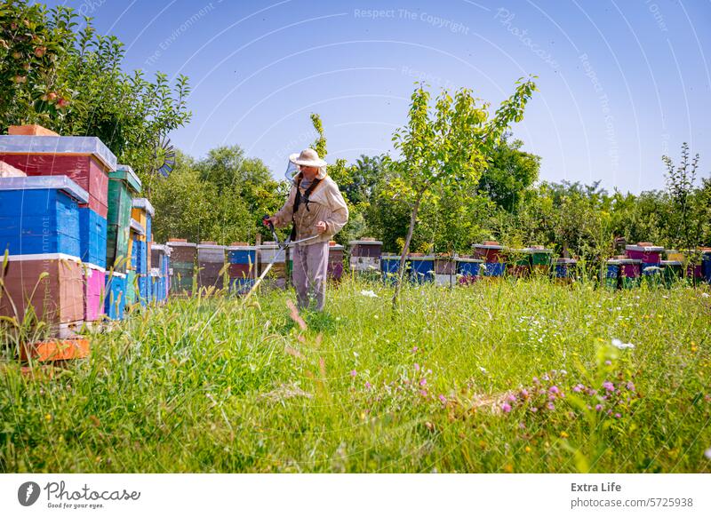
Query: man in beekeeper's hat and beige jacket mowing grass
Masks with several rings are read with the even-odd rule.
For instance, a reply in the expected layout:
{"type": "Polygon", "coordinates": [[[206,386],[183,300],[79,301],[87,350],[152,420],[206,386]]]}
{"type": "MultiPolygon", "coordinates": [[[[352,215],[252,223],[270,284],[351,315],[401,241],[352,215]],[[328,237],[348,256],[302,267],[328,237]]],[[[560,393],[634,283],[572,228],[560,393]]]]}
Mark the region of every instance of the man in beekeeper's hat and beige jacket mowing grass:
{"type": "Polygon", "coordinates": [[[292,279],[299,308],[311,308],[315,301],[313,308],[323,311],[329,241],[348,222],[348,206],[339,186],[326,174],[326,162],[314,149],[293,154],[289,161],[299,168],[299,173],[282,210],[265,219],[265,224],[293,224],[292,241],[309,239],[292,248],[292,279]]]}

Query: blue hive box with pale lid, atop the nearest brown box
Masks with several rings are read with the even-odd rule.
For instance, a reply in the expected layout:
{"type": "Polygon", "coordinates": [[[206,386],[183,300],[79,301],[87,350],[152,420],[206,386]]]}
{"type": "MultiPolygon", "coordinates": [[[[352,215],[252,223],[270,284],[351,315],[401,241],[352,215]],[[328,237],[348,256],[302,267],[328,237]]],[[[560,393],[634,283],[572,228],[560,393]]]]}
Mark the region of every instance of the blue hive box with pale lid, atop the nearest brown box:
{"type": "Polygon", "coordinates": [[[66,176],[0,178],[0,252],[79,256],[79,206],[87,192],[66,176]]]}

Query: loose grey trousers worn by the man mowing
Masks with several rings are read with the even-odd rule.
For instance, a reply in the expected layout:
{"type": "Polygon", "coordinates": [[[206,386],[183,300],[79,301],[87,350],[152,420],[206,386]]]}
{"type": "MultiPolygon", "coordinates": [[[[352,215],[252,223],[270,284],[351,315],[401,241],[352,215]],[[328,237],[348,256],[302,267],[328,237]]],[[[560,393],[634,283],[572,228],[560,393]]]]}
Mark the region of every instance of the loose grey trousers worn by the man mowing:
{"type": "Polygon", "coordinates": [[[296,289],[297,305],[300,309],[308,308],[312,301],[316,301],[314,308],[323,311],[328,271],[328,242],[297,244],[292,248],[292,253],[292,280],[296,289]]]}

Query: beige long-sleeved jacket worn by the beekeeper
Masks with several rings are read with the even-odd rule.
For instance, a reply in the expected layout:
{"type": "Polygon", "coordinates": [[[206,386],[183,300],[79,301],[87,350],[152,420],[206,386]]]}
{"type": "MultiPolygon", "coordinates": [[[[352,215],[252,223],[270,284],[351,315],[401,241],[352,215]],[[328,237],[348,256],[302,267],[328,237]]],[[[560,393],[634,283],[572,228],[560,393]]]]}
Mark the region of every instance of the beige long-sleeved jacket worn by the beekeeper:
{"type": "MultiPolygon", "coordinates": [[[[318,235],[316,231],[316,223],[318,221],[326,223],[326,231],[316,239],[304,244],[324,243],[332,240],[333,235],[338,234],[340,229],[346,226],[348,222],[348,206],[343,199],[343,195],[340,194],[339,186],[330,176],[321,179],[314,191],[309,195],[308,210],[303,198],[305,192],[306,189],[301,188],[301,203],[293,218],[296,226],[295,240],[299,241],[300,239],[318,235]]],[[[292,224],[295,198],[296,181],[292,184],[289,198],[284,203],[282,210],[277,211],[275,214],[275,227],[283,228],[292,224]]]]}

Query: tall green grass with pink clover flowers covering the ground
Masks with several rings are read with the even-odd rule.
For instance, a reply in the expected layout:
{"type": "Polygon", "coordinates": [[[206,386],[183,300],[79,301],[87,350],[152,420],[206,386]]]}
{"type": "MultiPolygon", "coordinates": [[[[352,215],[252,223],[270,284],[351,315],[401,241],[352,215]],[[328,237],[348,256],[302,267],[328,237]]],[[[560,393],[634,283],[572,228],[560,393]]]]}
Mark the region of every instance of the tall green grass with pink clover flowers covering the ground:
{"type": "Polygon", "coordinates": [[[707,295],[505,280],[393,313],[347,279],[303,322],[289,292],[175,298],[51,379],[7,350],[0,469],[709,472],[707,295]]]}

